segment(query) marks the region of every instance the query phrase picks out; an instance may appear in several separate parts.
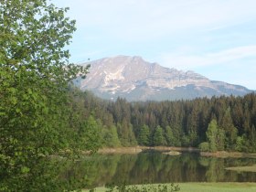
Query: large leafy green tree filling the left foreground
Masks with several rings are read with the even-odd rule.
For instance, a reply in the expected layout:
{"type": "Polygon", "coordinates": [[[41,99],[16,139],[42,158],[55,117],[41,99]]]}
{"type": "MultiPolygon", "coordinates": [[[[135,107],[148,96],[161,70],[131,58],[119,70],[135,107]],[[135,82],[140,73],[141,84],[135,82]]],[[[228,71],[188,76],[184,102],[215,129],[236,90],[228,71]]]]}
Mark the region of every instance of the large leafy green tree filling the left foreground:
{"type": "Polygon", "coordinates": [[[75,21],[65,17],[67,11],[47,0],[0,1],[1,190],[63,190],[48,177],[58,171],[37,172],[38,163],[73,151],[75,138],[82,141],[78,149],[99,148],[95,122],[80,121],[82,109],[73,108],[69,95],[70,80],[84,78],[88,67],[69,64],[64,47],[75,21]]]}

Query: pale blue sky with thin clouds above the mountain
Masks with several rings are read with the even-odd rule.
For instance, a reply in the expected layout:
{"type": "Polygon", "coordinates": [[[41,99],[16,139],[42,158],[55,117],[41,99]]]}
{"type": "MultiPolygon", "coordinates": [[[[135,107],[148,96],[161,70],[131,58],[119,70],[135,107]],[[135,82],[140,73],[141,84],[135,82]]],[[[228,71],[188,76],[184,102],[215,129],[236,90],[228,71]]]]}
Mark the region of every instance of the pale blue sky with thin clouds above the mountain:
{"type": "Polygon", "coordinates": [[[70,61],[141,56],[256,90],[255,0],[50,0],[77,31],[70,61]]]}

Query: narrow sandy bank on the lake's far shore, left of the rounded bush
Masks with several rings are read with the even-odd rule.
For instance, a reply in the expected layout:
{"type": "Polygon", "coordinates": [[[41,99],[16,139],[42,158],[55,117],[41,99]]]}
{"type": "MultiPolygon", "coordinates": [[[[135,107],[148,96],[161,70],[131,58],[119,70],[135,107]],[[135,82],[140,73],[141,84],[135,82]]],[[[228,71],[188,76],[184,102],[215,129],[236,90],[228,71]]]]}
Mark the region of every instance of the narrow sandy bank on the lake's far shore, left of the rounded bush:
{"type": "Polygon", "coordinates": [[[200,150],[195,147],[174,147],[174,146],[131,146],[131,147],[113,147],[113,148],[101,148],[99,154],[139,154],[143,150],[155,150],[155,151],[175,151],[175,152],[197,152],[200,150]]]}

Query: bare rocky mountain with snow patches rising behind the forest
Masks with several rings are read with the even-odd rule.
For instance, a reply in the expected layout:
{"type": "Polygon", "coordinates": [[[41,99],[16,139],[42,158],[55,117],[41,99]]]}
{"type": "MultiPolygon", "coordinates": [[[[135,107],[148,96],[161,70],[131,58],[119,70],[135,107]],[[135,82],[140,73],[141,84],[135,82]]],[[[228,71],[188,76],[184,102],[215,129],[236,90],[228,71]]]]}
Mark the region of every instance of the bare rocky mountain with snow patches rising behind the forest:
{"type": "Polygon", "coordinates": [[[173,101],[251,92],[240,85],[208,80],[193,71],[164,68],[141,57],[117,56],[90,64],[87,78],[74,80],[74,83],[81,90],[90,90],[103,99],[173,101]]]}

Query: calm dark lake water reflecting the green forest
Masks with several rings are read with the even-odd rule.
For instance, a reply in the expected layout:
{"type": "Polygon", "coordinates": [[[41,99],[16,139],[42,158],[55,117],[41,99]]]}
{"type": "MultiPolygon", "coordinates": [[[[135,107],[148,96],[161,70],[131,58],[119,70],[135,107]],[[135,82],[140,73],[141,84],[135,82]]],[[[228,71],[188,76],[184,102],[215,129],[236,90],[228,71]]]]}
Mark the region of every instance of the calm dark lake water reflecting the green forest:
{"type": "Polygon", "coordinates": [[[256,165],[256,159],[203,157],[196,153],[172,156],[145,151],[137,155],[93,155],[78,162],[74,169],[80,174],[87,173],[92,187],[113,182],[256,182],[256,173],[225,170],[240,165],[256,165]]]}

